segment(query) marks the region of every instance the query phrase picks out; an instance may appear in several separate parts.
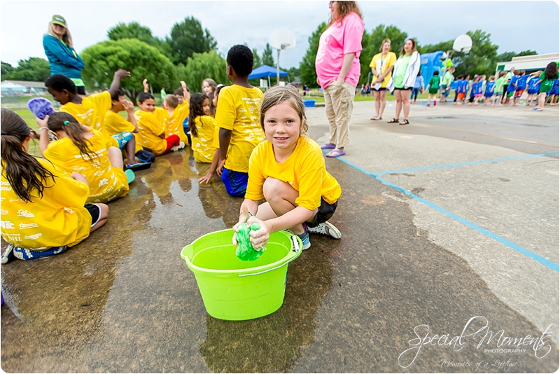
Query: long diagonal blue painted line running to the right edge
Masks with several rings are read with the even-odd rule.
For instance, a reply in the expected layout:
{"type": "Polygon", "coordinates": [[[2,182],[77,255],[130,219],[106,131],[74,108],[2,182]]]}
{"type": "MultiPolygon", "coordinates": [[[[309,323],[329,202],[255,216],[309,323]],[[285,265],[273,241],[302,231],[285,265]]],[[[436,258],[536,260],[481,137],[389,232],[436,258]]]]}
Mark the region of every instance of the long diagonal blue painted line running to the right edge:
{"type": "MultiPolygon", "coordinates": [[[[543,155],[547,155],[548,153],[544,153],[543,155]]],[[[552,153],[552,154],[558,154],[556,153],[552,153]]],[[[511,158],[507,158],[504,160],[510,160],[511,158]]],[[[346,165],[350,165],[351,167],[358,169],[360,172],[363,172],[364,174],[367,174],[369,176],[372,176],[374,179],[377,179],[378,181],[380,181],[381,183],[386,184],[387,186],[390,186],[392,188],[395,188],[395,190],[404,193],[407,196],[410,196],[411,198],[418,200],[419,202],[422,202],[423,204],[428,205],[428,207],[433,208],[435,210],[437,210],[437,212],[440,212],[442,214],[445,214],[446,216],[450,217],[451,219],[454,219],[455,221],[458,221],[460,223],[463,223],[463,225],[468,226],[469,228],[472,228],[473,230],[478,231],[481,234],[486,235],[487,237],[496,240],[496,242],[499,242],[501,244],[504,244],[507,247],[510,247],[511,249],[514,249],[515,251],[518,251],[520,254],[524,254],[525,256],[532,258],[535,261],[538,261],[538,263],[541,263],[542,265],[545,265],[547,268],[550,268],[556,272],[559,272],[559,265],[557,263],[554,263],[552,261],[547,260],[544,257],[539,256],[538,254],[535,254],[531,251],[529,251],[528,249],[525,249],[513,242],[510,242],[509,240],[500,237],[500,235],[497,235],[495,233],[492,233],[489,230],[486,230],[485,228],[482,228],[478,225],[476,225],[475,223],[472,223],[470,221],[467,221],[466,219],[463,219],[463,217],[457,216],[454,213],[449,212],[446,209],[443,209],[442,207],[435,205],[433,202],[429,202],[428,200],[421,198],[418,195],[414,195],[414,193],[405,190],[404,188],[400,188],[399,186],[395,185],[394,183],[391,183],[390,181],[386,181],[385,179],[381,178],[379,176],[378,173],[372,173],[372,172],[368,172],[367,170],[363,169],[362,167],[359,167],[357,165],[353,165],[353,163],[344,160],[344,158],[338,158],[338,160],[346,163],[346,165]]],[[[496,159],[498,160],[498,159],[496,159]]]]}

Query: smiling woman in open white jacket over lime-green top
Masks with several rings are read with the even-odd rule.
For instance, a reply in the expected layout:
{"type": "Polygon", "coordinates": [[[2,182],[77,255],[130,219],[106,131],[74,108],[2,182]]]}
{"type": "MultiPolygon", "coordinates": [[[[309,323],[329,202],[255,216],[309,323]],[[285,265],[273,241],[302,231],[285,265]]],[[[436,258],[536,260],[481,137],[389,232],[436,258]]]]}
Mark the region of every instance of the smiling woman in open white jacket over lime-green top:
{"type": "Polygon", "coordinates": [[[408,125],[408,113],[410,111],[410,92],[414,87],[414,81],[420,70],[420,54],[416,50],[416,41],[407,39],[405,45],[400,50],[400,57],[395,62],[393,80],[389,83],[388,89],[394,90],[397,99],[397,110],[395,118],[387,121],[388,123],[399,123],[408,125]],[[405,118],[399,122],[400,111],[404,111],[405,118]]]}

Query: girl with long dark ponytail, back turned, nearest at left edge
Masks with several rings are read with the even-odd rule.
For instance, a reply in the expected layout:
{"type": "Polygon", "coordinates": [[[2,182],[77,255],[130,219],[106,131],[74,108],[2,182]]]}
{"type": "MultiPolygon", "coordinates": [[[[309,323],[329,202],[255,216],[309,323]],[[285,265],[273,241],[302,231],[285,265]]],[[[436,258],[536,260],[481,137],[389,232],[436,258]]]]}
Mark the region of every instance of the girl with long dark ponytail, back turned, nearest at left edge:
{"type": "Polygon", "coordinates": [[[90,191],[83,175],[29,155],[31,137],[37,139],[18,114],[1,109],[1,233],[10,244],[1,263],[59,254],[109,215],[104,204],[85,204],[90,191]]]}

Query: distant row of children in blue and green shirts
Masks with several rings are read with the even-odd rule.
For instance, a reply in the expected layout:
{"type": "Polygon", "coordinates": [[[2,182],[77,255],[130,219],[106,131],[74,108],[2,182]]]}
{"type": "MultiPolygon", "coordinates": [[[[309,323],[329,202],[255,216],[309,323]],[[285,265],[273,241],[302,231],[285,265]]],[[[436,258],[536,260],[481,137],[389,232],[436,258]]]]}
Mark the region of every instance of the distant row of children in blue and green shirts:
{"type": "MultiPolygon", "coordinates": [[[[456,79],[454,104],[462,105],[483,105],[497,106],[520,105],[521,95],[527,91],[526,106],[532,106],[534,100],[542,97],[542,106],[545,102],[551,105],[558,104],[559,96],[559,80],[557,63],[551,62],[546,70],[536,71],[532,74],[526,74],[524,70],[511,69],[510,72],[501,71],[498,78],[490,76],[486,81],[486,75],[475,75],[471,80],[469,74],[460,75],[456,79]],[[548,71],[548,73],[547,73],[548,71]]],[[[440,85],[439,71],[434,71],[433,77],[430,78],[426,90],[428,90],[428,106],[433,100],[436,104],[437,90],[440,85]]],[[[535,110],[541,111],[542,106],[538,105],[535,110]]]]}

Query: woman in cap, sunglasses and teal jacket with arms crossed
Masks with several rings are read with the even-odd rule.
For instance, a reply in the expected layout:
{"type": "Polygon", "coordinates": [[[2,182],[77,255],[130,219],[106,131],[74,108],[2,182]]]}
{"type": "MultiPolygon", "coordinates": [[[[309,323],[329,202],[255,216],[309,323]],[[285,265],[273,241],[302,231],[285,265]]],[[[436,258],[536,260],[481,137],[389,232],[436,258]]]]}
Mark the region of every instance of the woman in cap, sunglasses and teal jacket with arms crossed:
{"type": "Polygon", "coordinates": [[[72,36],[62,15],[53,15],[43,36],[43,48],[50,64],[50,75],[62,74],[73,81],[79,95],[85,95],[81,71],[83,61],[73,48],[72,36]]]}

